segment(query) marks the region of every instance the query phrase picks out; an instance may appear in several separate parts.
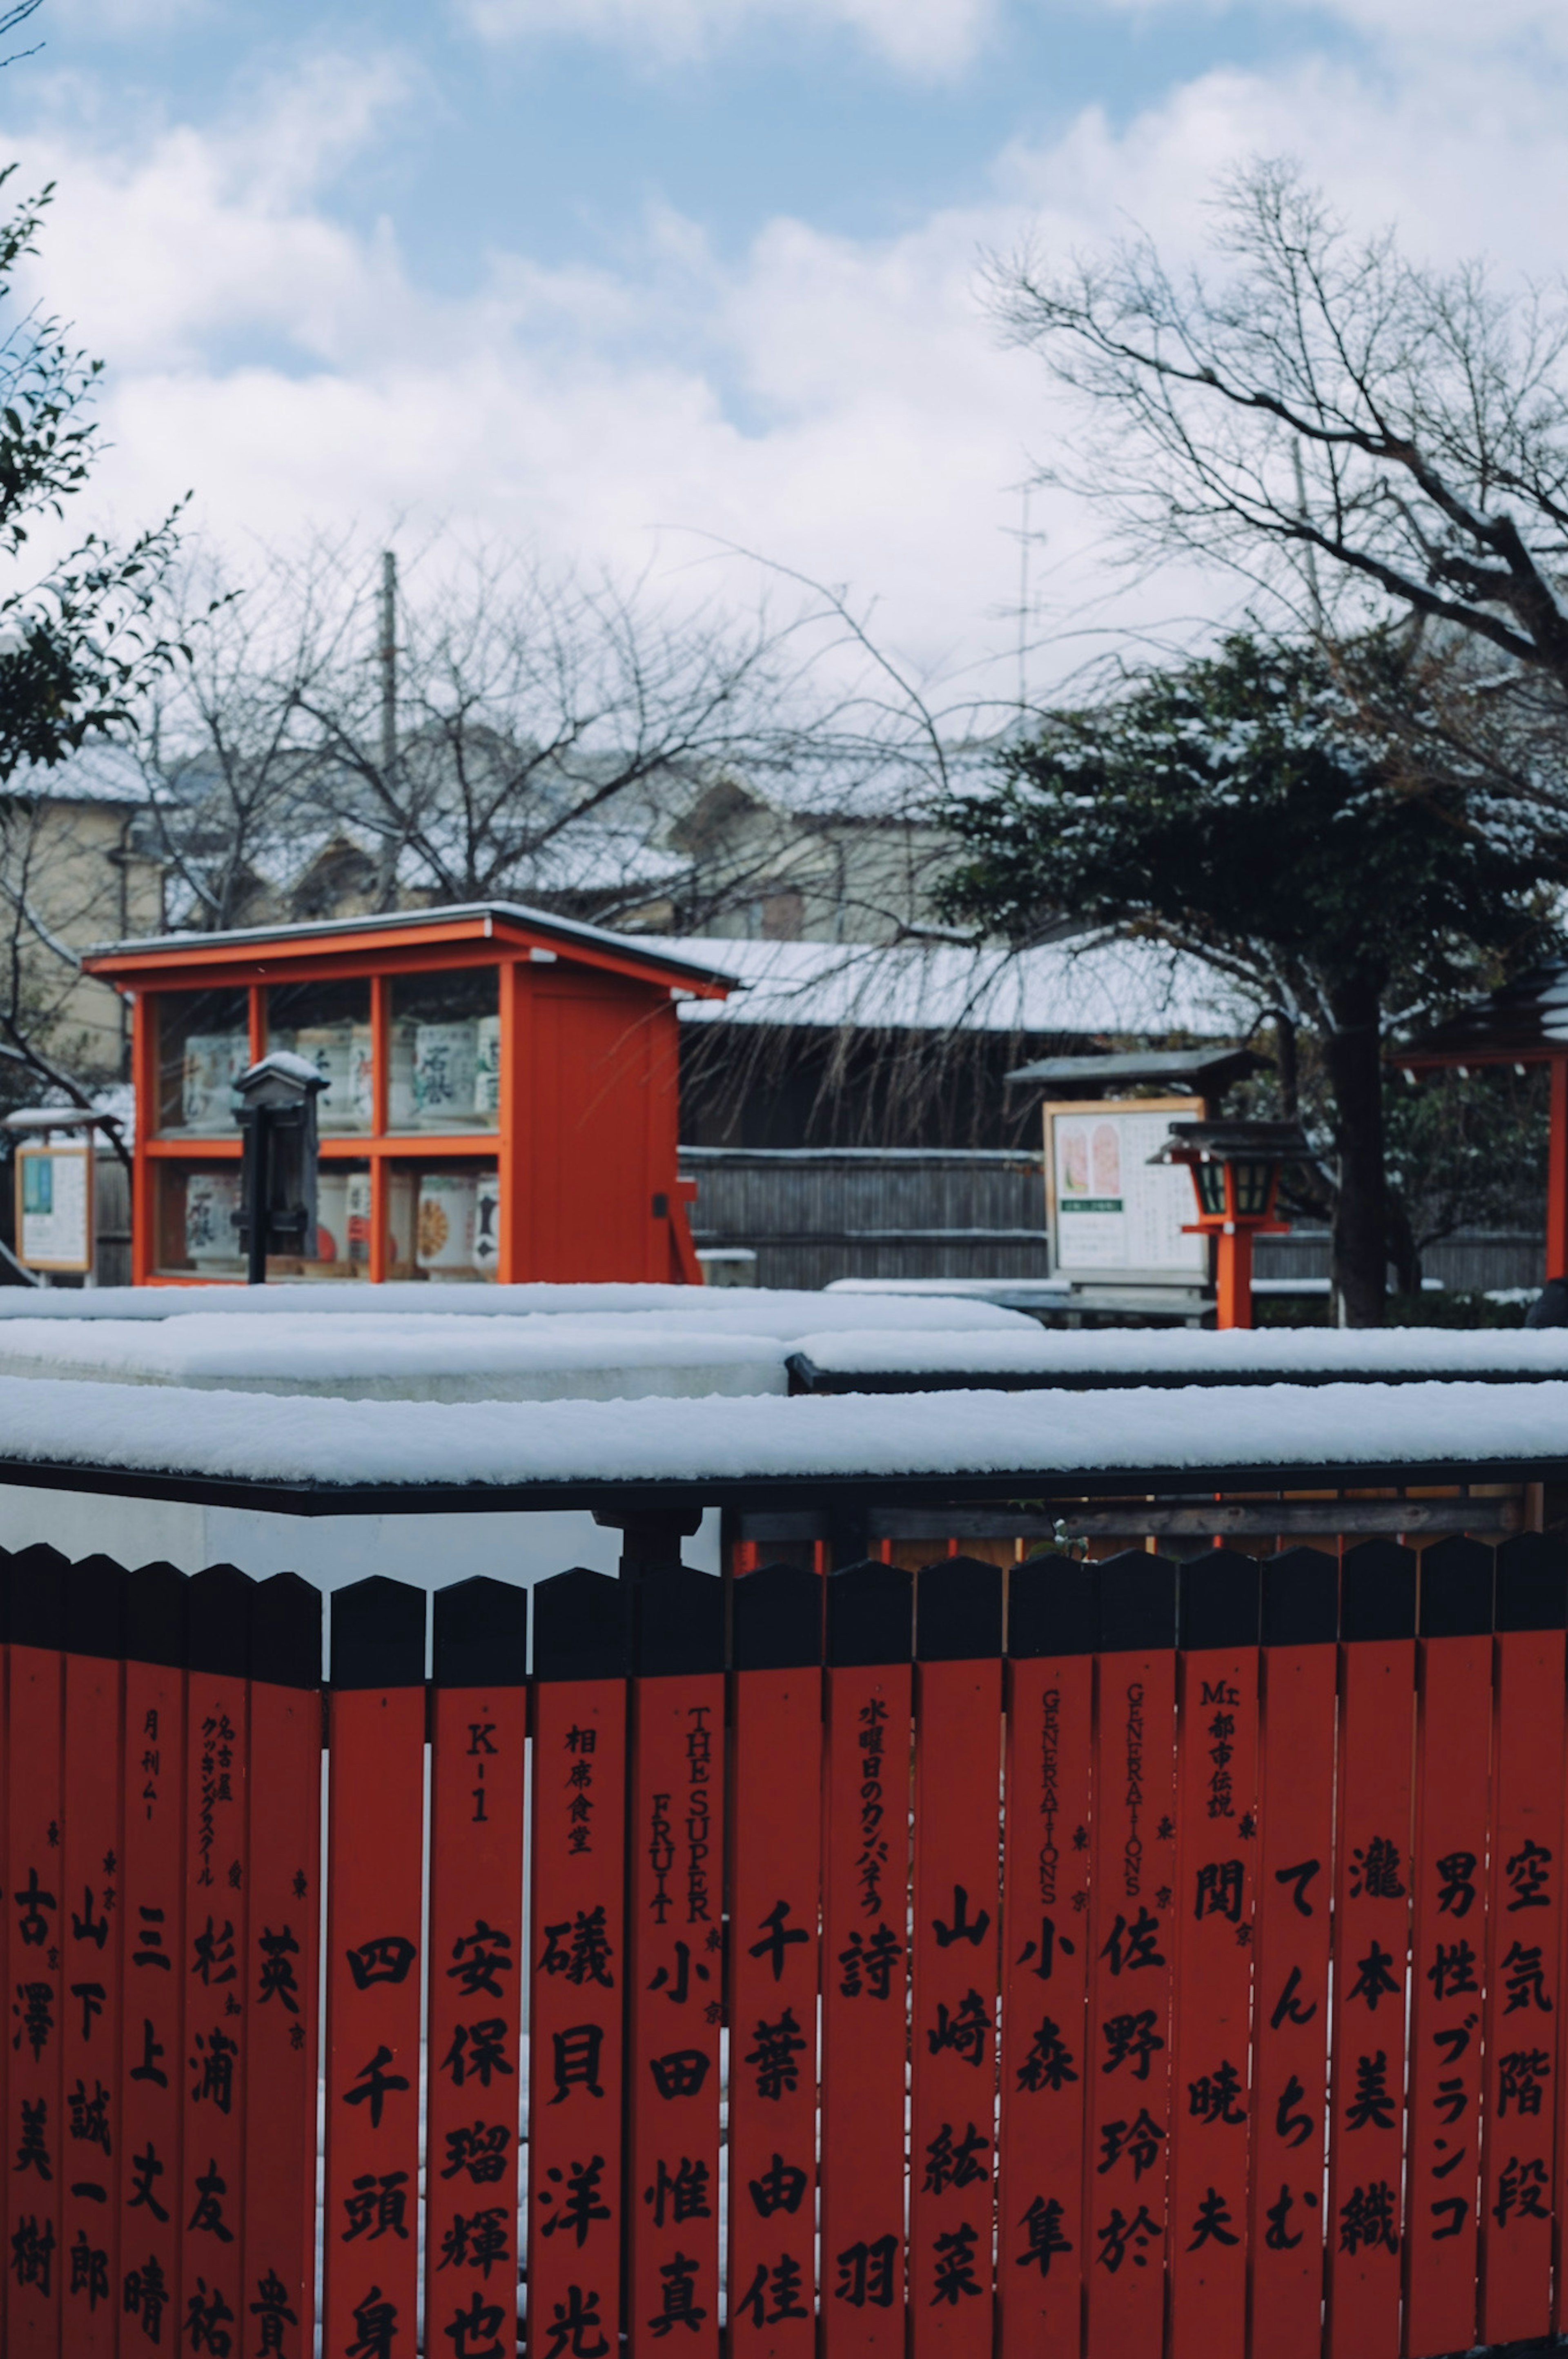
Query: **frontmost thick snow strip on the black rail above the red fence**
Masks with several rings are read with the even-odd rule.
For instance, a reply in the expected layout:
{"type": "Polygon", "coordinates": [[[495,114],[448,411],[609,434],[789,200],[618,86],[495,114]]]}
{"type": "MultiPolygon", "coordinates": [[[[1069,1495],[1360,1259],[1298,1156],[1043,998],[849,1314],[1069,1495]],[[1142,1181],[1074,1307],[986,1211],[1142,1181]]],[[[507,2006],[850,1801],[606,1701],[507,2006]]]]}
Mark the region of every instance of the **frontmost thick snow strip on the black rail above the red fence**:
{"type": "Polygon", "coordinates": [[[1021,1477],[1061,1489],[1061,1477],[1144,1470],[1563,1463],[1566,1382],[446,1406],[0,1378],[0,1479],[7,1465],[94,1467],[123,1472],[127,1489],[141,1472],[349,1496],[382,1486],[410,1505],[457,1486],[538,1486],[547,1505],[549,1491],[622,1484],[1021,1477]]]}

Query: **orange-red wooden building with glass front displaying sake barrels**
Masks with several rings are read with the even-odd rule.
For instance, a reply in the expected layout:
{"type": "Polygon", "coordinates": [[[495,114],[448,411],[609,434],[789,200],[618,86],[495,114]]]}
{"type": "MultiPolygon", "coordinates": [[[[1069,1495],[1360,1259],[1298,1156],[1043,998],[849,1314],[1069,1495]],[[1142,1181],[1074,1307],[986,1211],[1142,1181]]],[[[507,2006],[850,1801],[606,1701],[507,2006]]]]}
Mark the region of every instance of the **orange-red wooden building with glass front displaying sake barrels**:
{"type": "Polygon", "coordinates": [[[514,903],[120,941],[137,1286],[243,1276],[233,1080],[307,1057],[316,1257],[292,1279],[700,1279],[677,1180],[677,1003],[733,977],[514,903]]]}

